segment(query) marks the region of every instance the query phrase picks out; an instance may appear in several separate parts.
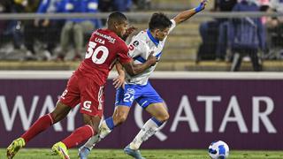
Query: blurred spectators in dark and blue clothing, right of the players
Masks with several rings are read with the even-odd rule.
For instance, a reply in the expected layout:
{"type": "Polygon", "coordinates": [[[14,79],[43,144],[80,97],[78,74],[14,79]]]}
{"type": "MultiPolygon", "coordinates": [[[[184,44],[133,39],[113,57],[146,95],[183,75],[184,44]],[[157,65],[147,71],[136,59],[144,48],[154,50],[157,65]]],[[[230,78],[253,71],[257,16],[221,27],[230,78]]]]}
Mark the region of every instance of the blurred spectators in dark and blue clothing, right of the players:
{"type": "MultiPolygon", "coordinates": [[[[283,0],[216,0],[212,11],[266,11],[283,13],[283,0]]],[[[200,25],[203,43],[197,61],[215,59],[233,62],[239,71],[249,55],[254,71],[262,71],[262,58],[280,58],[283,50],[281,17],[214,19],[200,25]],[[211,53],[212,52],[212,53],[211,53]]]]}

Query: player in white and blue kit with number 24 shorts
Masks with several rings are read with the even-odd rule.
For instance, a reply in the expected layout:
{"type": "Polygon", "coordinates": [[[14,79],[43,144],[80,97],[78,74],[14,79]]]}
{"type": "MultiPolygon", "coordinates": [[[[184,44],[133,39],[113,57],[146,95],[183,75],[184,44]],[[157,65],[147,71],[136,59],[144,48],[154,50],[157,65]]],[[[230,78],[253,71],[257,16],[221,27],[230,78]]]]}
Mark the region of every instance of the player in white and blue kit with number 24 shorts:
{"type": "MultiPolygon", "coordinates": [[[[196,8],[182,11],[173,19],[168,19],[163,13],[154,13],[149,21],[149,28],[134,36],[129,44],[129,56],[134,58],[134,63],[143,64],[150,53],[160,58],[167,35],[172,32],[176,25],[191,18],[195,13],[203,11],[206,4],[207,1],[203,0],[196,8]]],[[[100,133],[89,139],[79,149],[80,158],[87,158],[90,150],[99,140],[105,138],[117,125],[126,120],[134,101],[138,102],[152,117],[142,126],[141,131],[124,148],[124,151],[127,155],[136,159],[142,158],[139,151],[142,142],[156,133],[158,128],[169,118],[163,99],[149,83],[149,76],[155,70],[156,65],[152,65],[149,69],[135,76],[125,73],[126,84],[125,87],[119,87],[116,93],[116,108],[113,116],[106,118],[100,126],[100,133]]],[[[118,67],[118,72],[120,78],[124,79],[125,75],[121,66],[118,67]]]]}

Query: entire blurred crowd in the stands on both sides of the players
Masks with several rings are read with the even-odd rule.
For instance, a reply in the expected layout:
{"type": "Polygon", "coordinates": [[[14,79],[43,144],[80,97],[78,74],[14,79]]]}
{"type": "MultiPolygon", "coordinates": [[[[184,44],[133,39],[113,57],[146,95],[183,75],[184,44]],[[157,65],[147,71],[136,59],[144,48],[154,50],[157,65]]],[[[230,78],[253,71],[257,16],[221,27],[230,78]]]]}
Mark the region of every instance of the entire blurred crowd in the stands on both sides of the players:
{"type": "MultiPolygon", "coordinates": [[[[103,12],[149,10],[150,0],[1,0],[1,12],[103,12]]],[[[283,0],[215,0],[211,11],[283,13],[283,0]]],[[[0,59],[80,60],[89,34],[103,27],[102,19],[0,20],[0,59]],[[12,42],[6,46],[5,42],[12,42]],[[72,44],[72,45],[71,45],[72,44]],[[18,54],[17,51],[19,50],[18,54]],[[11,55],[11,52],[16,54],[11,55]],[[70,54],[71,56],[68,56],[70,54]]],[[[197,61],[231,61],[238,71],[247,55],[254,70],[261,59],[282,58],[283,18],[213,19],[200,24],[202,44],[197,61]]]]}

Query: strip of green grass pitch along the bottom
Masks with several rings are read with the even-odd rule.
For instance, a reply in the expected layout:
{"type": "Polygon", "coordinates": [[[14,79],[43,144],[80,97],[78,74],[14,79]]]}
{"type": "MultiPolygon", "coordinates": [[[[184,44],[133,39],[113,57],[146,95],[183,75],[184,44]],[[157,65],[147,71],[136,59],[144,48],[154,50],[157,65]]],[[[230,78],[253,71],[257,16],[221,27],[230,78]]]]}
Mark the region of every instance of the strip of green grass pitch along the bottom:
{"type": "MultiPolygon", "coordinates": [[[[69,150],[71,158],[77,158],[77,149],[69,150]]],[[[5,158],[6,150],[0,149],[0,158],[5,158]]],[[[209,159],[207,150],[143,150],[142,155],[147,159],[209,159]]],[[[48,148],[23,148],[14,157],[15,159],[52,159],[58,158],[51,155],[48,148]]],[[[127,159],[131,158],[124,154],[122,149],[94,149],[89,159],[127,159]]],[[[230,151],[229,159],[280,159],[283,151],[230,151]]]]}

